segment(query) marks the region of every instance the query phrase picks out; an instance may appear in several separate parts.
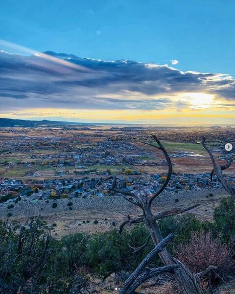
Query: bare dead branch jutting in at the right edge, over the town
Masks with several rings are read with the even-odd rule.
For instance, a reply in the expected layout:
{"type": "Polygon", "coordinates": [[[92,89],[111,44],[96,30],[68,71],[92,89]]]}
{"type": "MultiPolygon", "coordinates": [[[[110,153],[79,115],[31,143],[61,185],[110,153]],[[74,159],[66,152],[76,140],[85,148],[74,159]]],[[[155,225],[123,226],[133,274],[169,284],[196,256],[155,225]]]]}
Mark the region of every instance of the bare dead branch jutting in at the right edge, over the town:
{"type": "Polygon", "coordinates": [[[229,181],[227,181],[223,175],[223,171],[227,170],[231,166],[232,159],[229,159],[225,165],[217,165],[215,162],[214,156],[211,153],[211,150],[206,146],[205,142],[206,142],[206,138],[203,136],[202,145],[208,152],[211,158],[212,165],[213,165],[213,169],[211,171],[211,181],[212,181],[213,174],[215,174],[218,181],[223,186],[223,188],[228,192],[229,195],[231,195],[235,199],[235,189],[230,185],[229,181]]]}

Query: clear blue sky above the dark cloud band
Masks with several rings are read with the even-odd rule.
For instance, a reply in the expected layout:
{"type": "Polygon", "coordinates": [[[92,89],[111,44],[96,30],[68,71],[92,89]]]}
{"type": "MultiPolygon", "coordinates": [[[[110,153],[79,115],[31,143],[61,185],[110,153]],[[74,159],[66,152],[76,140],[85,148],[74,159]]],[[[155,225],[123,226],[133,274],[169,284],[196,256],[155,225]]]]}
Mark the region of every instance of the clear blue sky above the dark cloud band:
{"type": "MultiPolygon", "coordinates": [[[[233,0],[1,0],[0,38],[39,51],[235,76],[233,0]]],[[[8,49],[9,51],[9,49],[8,49]]]]}

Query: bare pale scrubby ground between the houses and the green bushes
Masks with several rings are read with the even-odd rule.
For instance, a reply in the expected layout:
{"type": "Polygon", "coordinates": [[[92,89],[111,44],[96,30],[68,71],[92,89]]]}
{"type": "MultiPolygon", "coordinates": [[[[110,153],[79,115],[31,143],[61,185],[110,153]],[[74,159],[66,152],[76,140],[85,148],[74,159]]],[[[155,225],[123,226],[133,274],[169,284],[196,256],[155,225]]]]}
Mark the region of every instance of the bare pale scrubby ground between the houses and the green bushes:
{"type": "MultiPolygon", "coordinates": [[[[227,194],[222,189],[179,191],[177,194],[164,192],[154,202],[153,211],[157,213],[199,203],[201,206],[190,212],[201,220],[211,220],[213,208],[224,196],[227,194]],[[209,196],[210,193],[213,194],[212,197],[209,196]]],[[[41,215],[49,225],[53,224],[52,235],[58,238],[75,232],[94,233],[109,230],[114,226],[114,222],[118,223],[124,219],[120,212],[132,216],[140,214],[138,208],[122,196],[21,200],[13,205],[13,208],[8,209],[9,203],[1,203],[0,217],[6,219],[11,213],[11,219],[24,222],[29,216],[41,215]],[[71,206],[68,206],[69,202],[72,202],[71,206]],[[57,204],[55,208],[53,203],[57,204]]]]}

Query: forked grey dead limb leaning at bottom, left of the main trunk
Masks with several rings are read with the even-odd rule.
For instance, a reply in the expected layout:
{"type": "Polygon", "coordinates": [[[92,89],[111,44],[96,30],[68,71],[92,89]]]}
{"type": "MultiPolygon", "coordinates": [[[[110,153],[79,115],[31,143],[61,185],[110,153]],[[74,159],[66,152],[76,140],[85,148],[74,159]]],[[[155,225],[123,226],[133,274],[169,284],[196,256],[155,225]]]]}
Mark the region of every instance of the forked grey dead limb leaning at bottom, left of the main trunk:
{"type": "Polygon", "coordinates": [[[164,266],[164,267],[150,267],[150,263],[154,257],[164,250],[165,245],[167,245],[174,238],[173,234],[170,234],[163,239],[153,250],[148,253],[148,255],[143,259],[141,264],[136,268],[136,270],[129,276],[129,278],[123,284],[119,294],[133,294],[137,287],[142,283],[146,282],[150,278],[156,277],[156,275],[161,273],[175,273],[175,270],[180,267],[179,264],[164,266]]]}

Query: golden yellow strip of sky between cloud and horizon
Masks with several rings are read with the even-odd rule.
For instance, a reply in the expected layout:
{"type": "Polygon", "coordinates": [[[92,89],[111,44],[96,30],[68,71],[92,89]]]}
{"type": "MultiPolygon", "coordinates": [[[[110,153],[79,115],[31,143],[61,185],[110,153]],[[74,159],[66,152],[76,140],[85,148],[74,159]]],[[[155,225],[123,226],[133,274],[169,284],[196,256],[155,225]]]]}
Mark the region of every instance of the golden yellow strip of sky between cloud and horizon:
{"type": "MultiPolygon", "coordinates": [[[[203,98],[201,96],[201,98],[203,98]]],[[[207,100],[206,102],[208,103],[207,100]]],[[[212,109],[175,109],[164,110],[104,110],[104,109],[61,109],[61,108],[31,108],[14,113],[1,113],[2,118],[59,120],[88,123],[138,123],[138,124],[203,124],[232,123],[235,119],[234,110],[214,111],[212,109]],[[91,119],[92,115],[92,119],[91,119]]]]}

